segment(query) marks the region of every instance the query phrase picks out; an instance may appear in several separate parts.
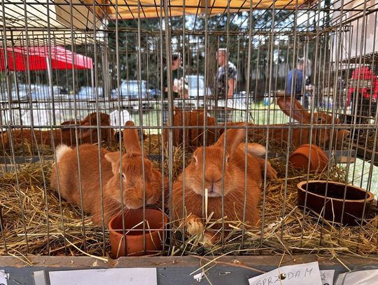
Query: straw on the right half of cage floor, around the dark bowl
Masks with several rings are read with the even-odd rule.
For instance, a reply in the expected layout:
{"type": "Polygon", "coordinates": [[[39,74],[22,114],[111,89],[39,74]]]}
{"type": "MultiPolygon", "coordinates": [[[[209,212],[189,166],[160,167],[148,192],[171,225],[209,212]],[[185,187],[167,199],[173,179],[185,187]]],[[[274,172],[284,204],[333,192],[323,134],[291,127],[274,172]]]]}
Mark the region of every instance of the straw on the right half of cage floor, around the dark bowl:
{"type": "MultiPolygon", "coordinates": [[[[285,163],[282,160],[275,160],[272,165],[279,170],[280,174],[285,172],[285,163]]],[[[345,179],[344,173],[344,169],[334,166],[330,169],[331,175],[328,179],[342,182],[345,179]]],[[[327,179],[327,174],[311,174],[309,180],[311,179],[327,179]]],[[[260,209],[264,209],[262,234],[260,227],[248,228],[245,225],[243,231],[241,221],[227,221],[232,230],[225,235],[223,244],[219,241],[211,249],[205,249],[198,238],[183,239],[182,232],[178,231],[175,235],[172,254],[181,254],[183,249],[186,254],[214,255],[224,253],[322,253],[330,255],[378,253],[378,216],[368,219],[363,227],[340,226],[329,221],[324,221],[322,225],[322,220],[318,215],[307,213],[304,216],[302,209],[297,207],[297,183],[306,181],[307,174],[300,174],[290,168],[286,195],[284,180],[281,175],[276,181],[269,181],[265,193],[265,207],[262,207],[262,200],[260,201],[260,209]]],[[[214,222],[209,221],[205,229],[211,231],[211,224],[214,222]]]]}

